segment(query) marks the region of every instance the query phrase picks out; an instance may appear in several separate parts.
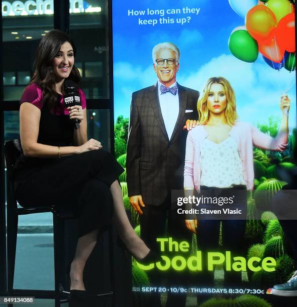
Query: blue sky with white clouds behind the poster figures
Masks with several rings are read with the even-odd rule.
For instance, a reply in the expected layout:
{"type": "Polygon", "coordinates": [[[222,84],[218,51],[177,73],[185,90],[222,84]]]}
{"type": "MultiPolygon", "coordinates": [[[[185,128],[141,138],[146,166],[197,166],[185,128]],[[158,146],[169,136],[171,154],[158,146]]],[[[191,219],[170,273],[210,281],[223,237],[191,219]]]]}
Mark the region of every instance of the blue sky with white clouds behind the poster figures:
{"type": "MultiPolygon", "coordinates": [[[[137,13],[136,13],[137,14],[137,13]]],[[[113,51],[115,119],[129,117],[132,92],[157,81],[152,67],[154,45],[170,41],[181,52],[177,81],[184,86],[201,90],[209,77],[223,76],[233,86],[239,117],[252,124],[265,122],[270,115],[280,115],[279,97],[294,73],[274,71],[259,54],[255,63],[245,63],[231,55],[228,38],[244,20],[229,6],[228,0],[113,0],[113,51]],[[166,14],[167,9],[200,8],[198,15],[166,14]],[[160,15],[147,15],[149,10],[165,10],[165,19],[174,24],[160,24],[160,15]],[[128,16],[130,12],[145,11],[145,15],[128,16]],[[138,25],[138,19],[158,20],[153,25],[138,25]],[[176,19],[186,22],[177,24],[176,19]],[[187,22],[189,21],[189,22],[187,22]],[[282,89],[282,90],[281,90],[282,89]]],[[[295,85],[289,91],[292,107],[289,126],[296,126],[295,85]]]]}

